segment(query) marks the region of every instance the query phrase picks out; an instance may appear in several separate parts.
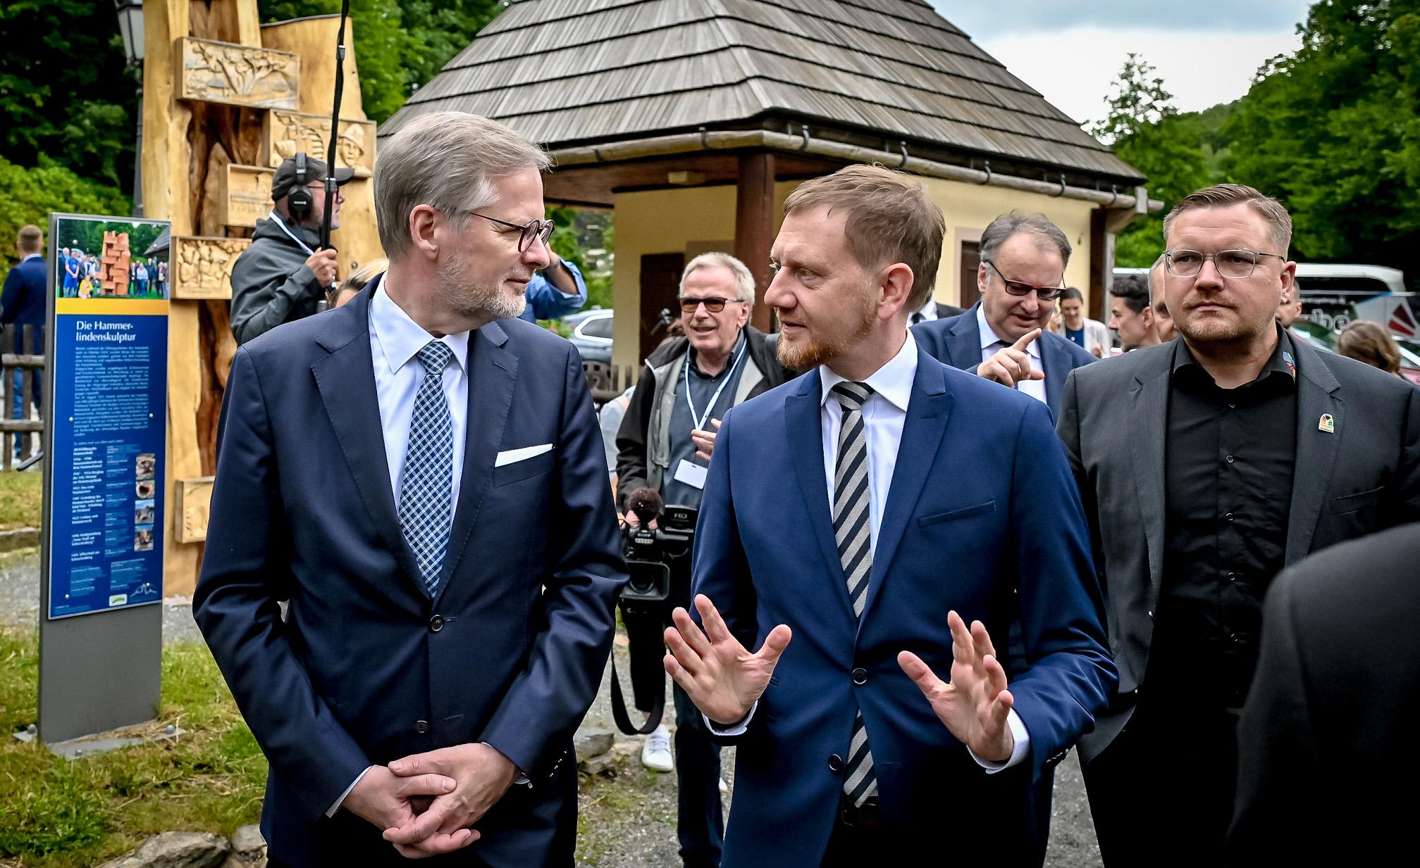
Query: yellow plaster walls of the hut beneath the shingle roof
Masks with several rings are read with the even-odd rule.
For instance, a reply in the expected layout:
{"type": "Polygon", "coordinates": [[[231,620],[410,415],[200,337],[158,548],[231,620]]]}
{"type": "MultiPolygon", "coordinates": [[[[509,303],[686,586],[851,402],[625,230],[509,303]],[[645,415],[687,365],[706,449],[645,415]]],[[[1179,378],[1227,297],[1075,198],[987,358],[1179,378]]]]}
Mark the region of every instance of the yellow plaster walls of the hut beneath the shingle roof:
{"type": "MultiPolygon", "coordinates": [[[[934,295],[937,301],[958,304],[957,244],[958,238],[974,238],[998,214],[1011,210],[1039,211],[1055,221],[1075,252],[1065,269],[1065,282],[1078,286],[1089,299],[1089,214],[1093,206],[1072,199],[1056,199],[1038,193],[1007,190],[980,184],[964,184],[941,179],[922,179],[927,194],[937,203],[947,220],[943,240],[941,267],[937,272],[934,295]]],[[[799,182],[774,184],[775,231],[782,220],[784,199],[799,182]]],[[[684,190],[645,190],[621,193],[615,200],[616,264],[612,271],[612,305],[618,311],[640,311],[640,258],[646,254],[684,252],[687,245],[734,240],[733,186],[689,187],[684,190]]],[[[699,252],[699,251],[697,251],[699,252]]],[[[612,335],[612,362],[639,367],[638,313],[618,316],[612,335]]]]}

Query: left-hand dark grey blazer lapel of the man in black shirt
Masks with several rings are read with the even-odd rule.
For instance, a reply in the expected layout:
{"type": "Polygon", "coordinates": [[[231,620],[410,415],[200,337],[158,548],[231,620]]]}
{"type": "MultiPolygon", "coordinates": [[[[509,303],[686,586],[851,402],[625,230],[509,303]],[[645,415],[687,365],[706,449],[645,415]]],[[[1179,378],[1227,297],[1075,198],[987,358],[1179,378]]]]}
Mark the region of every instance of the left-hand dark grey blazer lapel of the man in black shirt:
{"type": "Polygon", "coordinates": [[[1159,353],[1160,365],[1135,377],[1129,393],[1129,448],[1135,464],[1135,492],[1145,528],[1150,599],[1159,603],[1164,546],[1164,440],[1169,433],[1169,373],[1172,353],[1159,353]]]}

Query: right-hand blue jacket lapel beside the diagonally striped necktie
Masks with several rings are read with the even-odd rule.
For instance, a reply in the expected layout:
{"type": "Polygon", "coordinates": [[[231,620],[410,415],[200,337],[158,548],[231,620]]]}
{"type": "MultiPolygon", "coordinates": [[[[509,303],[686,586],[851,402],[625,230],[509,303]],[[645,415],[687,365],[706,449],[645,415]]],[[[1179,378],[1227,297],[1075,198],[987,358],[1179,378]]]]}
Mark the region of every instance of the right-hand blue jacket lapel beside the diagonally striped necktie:
{"type": "Polygon", "coordinates": [[[922,496],[922,489],[936,464],[950,407],[951,394],[947,393],[944,372],[934,359],[920,353],[912,397],[907,401],[907,418],[903,420],[902,441],[897,444],[897,462],[888,486],[883,518],[878,526],[873,569],[868,574],[868,600],[863,603],[859,628],[868,620],[878,590],[888,577],[888,567],[892,566],[907,522],[917,508],[917,498],[922,496]]]}

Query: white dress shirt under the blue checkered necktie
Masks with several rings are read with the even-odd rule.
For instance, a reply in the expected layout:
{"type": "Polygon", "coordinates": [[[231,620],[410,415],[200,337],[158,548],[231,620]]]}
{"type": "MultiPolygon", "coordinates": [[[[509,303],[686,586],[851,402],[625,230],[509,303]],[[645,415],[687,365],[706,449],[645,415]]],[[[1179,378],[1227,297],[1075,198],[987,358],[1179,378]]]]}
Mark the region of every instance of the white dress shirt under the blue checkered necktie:
{"type": "MultiPolygon", "coordinates": [[[[389,279],[388,275],[385,279],[389,279]]],[[[442,340],[453,350],[444,365],[440,384],[453,423],[453,467],[450,503],[459,503],[459,482],[463,479],[463,445],[469,420],[469,332],[435,338],[405,313],[383,292],[383,281],[369,299],[369,353],[375,366],[375,396],[379,400],[379,424],[385,434],[385,461],[389,464],[389,485],[399,511],[399,481],[405,472],[405,452],[409,451],[409,423],[415,418],[415,396],[425,382],[425,366],[419,350],[430,340],[442,340]]],[[[450,512],[450,521],[453,513],[450,512]]],[[[361,772],[325,811],[334,817],[345,797],[351,794],[369,769],[361,772]]]]}

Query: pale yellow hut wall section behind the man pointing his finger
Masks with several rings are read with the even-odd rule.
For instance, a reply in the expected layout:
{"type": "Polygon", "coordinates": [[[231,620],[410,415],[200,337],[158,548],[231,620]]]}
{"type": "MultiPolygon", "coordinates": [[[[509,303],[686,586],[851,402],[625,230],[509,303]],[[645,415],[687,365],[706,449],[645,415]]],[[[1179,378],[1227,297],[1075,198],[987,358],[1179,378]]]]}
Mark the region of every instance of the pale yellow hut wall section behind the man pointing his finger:
{"type": "MultiPolygon", "coordinates": [[[[1058,199],[1041,196],[1039,193],[1025,193],[1022,190],[1007,190],[1005,187],[988,187],[983,184],[964,184],[936,177],[923,179],[927,184],[927,194],[937,203],[947,218],[947,234],[941,244],[941,267],[937,271],[937,285],[934,295],[939,302],[949,305],[960,304],[957,291],[957,247],[958,240],[967,237],[974,240],[993,220],[1007,211],[1035,213],[1049,217],[1055,226],[1061,227],[1069,238],[1075,252],[1071,254],[1069,265],[1065,268],[1065,285],[1076,286],[1085,294],[1085,306],[1089,306],[1089,214],[1095,210],[1088,201],[1078,199],[1058,199]]],[[[618,240],[621,240],[618,228],[618,240]]]]}

